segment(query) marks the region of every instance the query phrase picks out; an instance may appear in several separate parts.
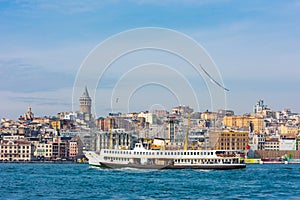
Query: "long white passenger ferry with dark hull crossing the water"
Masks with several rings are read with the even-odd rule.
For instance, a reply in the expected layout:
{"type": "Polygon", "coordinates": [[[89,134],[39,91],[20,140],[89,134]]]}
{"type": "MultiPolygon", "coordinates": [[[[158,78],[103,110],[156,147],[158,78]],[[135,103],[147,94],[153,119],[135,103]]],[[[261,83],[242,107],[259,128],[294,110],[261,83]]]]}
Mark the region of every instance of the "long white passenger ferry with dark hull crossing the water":
{"type": "Polygon", "coordinates": [[[133,150],[102,149],[86,151],[91,166],[138,169],[241,169],[243,153],[229,150],[154,150],[136,143],[133,150]]]}

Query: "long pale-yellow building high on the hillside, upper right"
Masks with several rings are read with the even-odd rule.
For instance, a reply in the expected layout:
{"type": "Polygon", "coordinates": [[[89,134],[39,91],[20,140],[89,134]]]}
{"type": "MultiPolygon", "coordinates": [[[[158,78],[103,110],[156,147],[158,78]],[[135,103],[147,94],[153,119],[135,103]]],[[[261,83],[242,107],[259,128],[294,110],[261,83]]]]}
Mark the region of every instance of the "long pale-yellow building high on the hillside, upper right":
{"type": "Polygon", "coordinates": [[[243,116],[225,116],[223,118],[223,125],[232,129],[249,130],[250,123],[252,123],[253,132],[262,132],[265,128],[264,119],[262,117],[254,117],[249,115],[243,116]]]}

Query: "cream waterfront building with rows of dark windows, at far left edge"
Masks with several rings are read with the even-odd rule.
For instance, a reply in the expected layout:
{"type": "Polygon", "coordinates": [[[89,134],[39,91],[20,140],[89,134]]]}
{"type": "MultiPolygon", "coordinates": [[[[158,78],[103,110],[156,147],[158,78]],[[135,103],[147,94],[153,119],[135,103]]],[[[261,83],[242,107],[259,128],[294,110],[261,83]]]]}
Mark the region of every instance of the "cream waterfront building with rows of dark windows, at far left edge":
{"type": "Polygon", "coordinates": [[[27,162],[34,159],[34,145],[24,140],[1,140],[1,162],[27,162]]]}

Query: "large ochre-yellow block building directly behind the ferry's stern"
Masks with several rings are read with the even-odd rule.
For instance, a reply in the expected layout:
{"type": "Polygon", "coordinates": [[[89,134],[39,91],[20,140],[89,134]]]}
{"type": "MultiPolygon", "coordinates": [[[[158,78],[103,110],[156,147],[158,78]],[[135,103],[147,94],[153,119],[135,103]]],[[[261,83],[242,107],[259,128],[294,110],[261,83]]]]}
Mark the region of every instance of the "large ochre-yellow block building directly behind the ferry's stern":
{"type": "Polygon", "coordinates": [[[249,132],[222,131],[210,133],[210,144],[217,150],[246,150],[249,132]]]}

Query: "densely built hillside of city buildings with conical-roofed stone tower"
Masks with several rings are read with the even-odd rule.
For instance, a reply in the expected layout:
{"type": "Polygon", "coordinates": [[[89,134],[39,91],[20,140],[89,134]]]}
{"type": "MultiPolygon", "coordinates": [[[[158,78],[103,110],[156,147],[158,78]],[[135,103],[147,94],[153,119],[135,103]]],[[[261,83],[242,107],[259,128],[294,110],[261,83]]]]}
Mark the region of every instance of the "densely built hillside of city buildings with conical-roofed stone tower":
{"type": "Polygon", "coordinates": [[[241,150],[251,158],[300,158],[300,115],[289,109],[273,111],[259,100],[249,114],[231,110],[196,112],[180,105],[167,110],[108,113],[95,117],[87,88],[77,112],[36,117],[31,107],[17,120],[1,119],[0,162],[84,160],[83,151],[131,149],[139,141],[164,139],[168,149],[241,150]]]}

